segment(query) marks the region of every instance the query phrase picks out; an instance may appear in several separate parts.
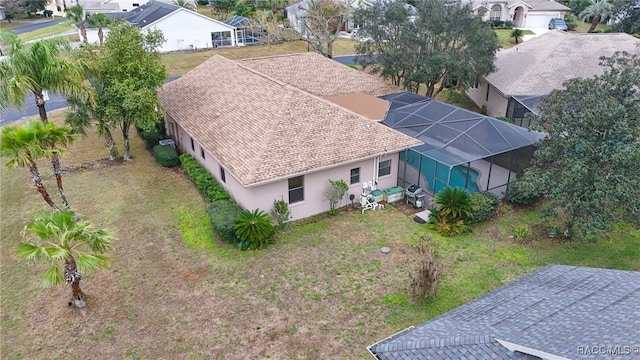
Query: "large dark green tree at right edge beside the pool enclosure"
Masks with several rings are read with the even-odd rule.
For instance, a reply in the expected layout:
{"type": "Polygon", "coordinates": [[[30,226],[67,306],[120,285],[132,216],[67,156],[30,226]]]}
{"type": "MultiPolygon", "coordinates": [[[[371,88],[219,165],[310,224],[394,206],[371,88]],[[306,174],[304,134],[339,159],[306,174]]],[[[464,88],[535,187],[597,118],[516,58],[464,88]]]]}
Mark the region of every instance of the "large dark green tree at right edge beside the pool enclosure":
{"type": "Polygon", "coordinates": [[[640,58],[617,53],[602,65],[603,75],[569,80],[540,105],[548,136],[532,174],[547,213],[586,236],[616,221],[640,226],[640,58]]]}

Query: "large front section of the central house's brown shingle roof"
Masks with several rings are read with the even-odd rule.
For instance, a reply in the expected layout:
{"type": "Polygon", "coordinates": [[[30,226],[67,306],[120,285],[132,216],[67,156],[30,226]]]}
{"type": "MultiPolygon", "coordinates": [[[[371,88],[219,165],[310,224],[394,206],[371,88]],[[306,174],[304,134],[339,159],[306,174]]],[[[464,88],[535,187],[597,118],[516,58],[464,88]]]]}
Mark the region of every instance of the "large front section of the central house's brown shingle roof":
{"type": "Polygon", "coordinates": [[[421,144],[245,65],[216,55],[159,93],[167,114],[244,186],[421,144]]]}

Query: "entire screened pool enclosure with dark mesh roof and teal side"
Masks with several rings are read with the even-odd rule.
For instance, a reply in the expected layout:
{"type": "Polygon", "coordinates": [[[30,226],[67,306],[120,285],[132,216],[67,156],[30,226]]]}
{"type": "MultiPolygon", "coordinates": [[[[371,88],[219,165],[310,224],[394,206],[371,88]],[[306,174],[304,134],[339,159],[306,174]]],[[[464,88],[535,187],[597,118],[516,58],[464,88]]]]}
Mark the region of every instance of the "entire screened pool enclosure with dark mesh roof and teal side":
{"type": "Polygon", "coordinates": [[[383,124],[424,142],[400,153],[398,183],[434,195],[447,186],[500,197],[530,166],[544,134],[453,105],[402,92],[382,96],[391,106],[383,124]]]}

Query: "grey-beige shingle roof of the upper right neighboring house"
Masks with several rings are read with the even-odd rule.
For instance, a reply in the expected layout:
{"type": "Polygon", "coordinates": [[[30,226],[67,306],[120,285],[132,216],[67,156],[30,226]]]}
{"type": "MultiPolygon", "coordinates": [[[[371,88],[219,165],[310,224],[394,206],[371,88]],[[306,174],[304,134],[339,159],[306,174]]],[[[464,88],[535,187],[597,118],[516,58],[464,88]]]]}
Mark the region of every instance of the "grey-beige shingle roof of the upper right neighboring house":
{"type": "Polygon", "coordinates": [[[549,31],[496,55],[497,71],[486,80],[503,95],[546,95],[576,77],[602,74],[601,56],[640,53],[640,40],[628,34],[567,34],[549,31]]]}

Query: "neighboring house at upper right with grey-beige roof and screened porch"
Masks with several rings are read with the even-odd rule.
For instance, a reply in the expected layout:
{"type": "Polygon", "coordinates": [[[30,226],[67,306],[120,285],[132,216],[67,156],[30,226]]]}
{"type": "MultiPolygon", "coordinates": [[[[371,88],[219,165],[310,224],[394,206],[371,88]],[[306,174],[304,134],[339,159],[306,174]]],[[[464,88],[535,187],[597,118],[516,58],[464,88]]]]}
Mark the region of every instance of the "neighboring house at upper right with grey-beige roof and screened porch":
{"type": "Polygon", "coordinates": [[[628,34],[568,34],[549,31],[496,55],[497,71],[467,95],[492,117],[506,116],[528,127],[528,112],[538,113],[542,98],[564,89],[569,79],[600,75],[600,57],[616,51],[640,53],[640,40],[628,34]]]}

